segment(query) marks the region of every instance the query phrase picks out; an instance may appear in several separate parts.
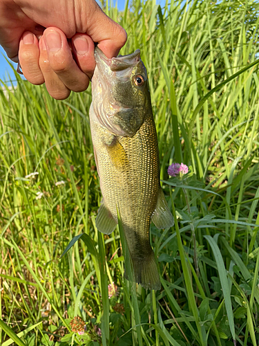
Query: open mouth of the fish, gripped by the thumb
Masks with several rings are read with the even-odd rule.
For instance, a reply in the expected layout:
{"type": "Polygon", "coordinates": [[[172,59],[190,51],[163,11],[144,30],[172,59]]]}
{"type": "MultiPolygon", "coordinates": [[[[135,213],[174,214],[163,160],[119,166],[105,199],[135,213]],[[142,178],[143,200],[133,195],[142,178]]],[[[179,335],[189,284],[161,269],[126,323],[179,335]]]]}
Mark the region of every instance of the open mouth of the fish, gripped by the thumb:
{"type": "MultiPolygon", "coordinates": [[[[134,53],[128,55],[118,55],[117,57],[109,59],[104,55],[100,48],[96,47],[95,61],[103,68],[104,66],[108,66],[113,72],[124,71],[140,61],[140,49],[137,49],[134,53]]],[[[107,68],[105,70],[107,73],[107,68]]]]}

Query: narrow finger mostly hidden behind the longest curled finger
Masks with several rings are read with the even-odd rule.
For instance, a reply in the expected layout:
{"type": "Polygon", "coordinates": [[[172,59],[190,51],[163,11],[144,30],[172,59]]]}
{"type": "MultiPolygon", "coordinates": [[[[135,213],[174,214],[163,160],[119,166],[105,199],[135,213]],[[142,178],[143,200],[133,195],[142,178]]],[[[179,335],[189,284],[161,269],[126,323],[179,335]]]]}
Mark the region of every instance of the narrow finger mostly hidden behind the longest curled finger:
{"type": "Polygon", "coordinates": [[[64,100],[70,95],[70,90],[59,79],[57,73],[52,70],[48,60],[48,53],[44,37],[39,40],[39,67],[44,75],[46,89],[52,98],[56,100],[64,100]]]}

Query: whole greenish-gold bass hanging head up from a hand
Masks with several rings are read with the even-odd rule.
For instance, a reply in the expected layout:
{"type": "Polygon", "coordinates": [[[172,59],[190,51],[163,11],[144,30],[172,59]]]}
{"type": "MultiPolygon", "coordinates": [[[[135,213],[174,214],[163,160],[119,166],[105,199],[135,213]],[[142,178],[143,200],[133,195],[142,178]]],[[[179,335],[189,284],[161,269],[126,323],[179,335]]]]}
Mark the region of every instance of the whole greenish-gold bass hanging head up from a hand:
{"type": "Polygon", "coordinates": [[[103,197],[95,224],[100,232],[111,234],[119,215],[135,282],[144,289],[159,290],[151,220],[159,229],[170,228],[174,221],[160,185],[146,68],[139,49],[108,59],[96,47],[95,62],[89,118],[103,197]]]}

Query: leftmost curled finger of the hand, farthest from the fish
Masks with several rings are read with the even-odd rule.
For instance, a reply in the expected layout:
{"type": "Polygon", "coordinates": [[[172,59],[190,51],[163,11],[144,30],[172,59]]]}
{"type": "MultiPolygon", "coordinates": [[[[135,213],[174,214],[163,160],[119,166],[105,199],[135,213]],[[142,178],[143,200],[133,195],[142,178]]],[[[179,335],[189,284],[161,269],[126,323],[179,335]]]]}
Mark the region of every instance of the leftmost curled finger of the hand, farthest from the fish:
{"type": "Polygon", "coordinates": [[[38,39],[29,31],[26,31],[20,40],[19,64],[26,80],[36,85],[44,83],[44,76],[39,68],[38,39]]]}

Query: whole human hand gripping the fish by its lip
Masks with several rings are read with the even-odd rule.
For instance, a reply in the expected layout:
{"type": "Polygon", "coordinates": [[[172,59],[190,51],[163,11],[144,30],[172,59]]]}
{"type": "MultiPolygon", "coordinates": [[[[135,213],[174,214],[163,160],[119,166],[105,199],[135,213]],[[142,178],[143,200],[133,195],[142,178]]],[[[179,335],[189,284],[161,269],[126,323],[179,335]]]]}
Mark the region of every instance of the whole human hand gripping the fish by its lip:
{"type": "Polygon", "coordinates": [[[94,42],[107,57],[126,42],[125,30],[95,0],[0,0],[1,46],[12,61],[19,55],[26,79],[45,82],[53,98],[87,89],[94,42]]]}

